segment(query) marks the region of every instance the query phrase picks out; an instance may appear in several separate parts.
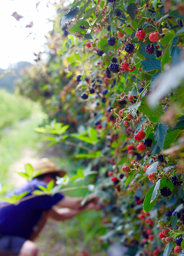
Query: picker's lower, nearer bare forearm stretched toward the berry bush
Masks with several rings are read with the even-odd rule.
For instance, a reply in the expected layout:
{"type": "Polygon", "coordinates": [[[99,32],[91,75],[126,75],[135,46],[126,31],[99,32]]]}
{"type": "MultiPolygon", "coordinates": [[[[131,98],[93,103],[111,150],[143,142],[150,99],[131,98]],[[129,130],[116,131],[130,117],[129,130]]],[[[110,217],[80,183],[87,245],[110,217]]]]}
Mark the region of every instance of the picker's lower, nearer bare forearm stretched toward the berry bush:
{"type": "Polygon", "coordinates": [[[54,220],[54,221],[64,221],[70,218],[73,218],[77,214],[83,212],[84,210],[87,209],[100,209],[99,206],[96,206],[93,203],[90,203],[89,205],[78,209],[78,210],[72,210],[69,208],[60,208],[58,209],[57,207],[53,206],[51,210],[47,212],[47,217],[54,220]]]}

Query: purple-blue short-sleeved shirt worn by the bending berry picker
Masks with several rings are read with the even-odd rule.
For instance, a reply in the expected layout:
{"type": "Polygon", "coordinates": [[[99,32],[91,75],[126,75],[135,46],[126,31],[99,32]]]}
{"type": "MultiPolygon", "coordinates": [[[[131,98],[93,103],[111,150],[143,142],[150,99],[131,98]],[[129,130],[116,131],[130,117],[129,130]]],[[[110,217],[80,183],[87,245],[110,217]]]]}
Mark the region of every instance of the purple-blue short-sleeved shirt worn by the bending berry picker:
{"type": "MultiPolygon", "coordinates": [[[[22,194],[28,191],[26,196],[30,196],[33,190],[39,189],[38,185],[47,186],[46,182],[39,179],[33,179],[26,185],[12,191],[7,196],[14,194],[22,194]]],[[[39,189],[40,190],[40,189],[39,189]]],[[[25,197],[26,197],[25,196],[25,197]]],[[[2,207],[6,202],[0,202],[0,234],[15,235],[29,239],[30,235],[35,231],[44,211],[50,210],[53,205],[57,204],[64,195],[56,193],[53,196],[42,195],[35,196],[18,205],[8,205],[2,207]]]]}

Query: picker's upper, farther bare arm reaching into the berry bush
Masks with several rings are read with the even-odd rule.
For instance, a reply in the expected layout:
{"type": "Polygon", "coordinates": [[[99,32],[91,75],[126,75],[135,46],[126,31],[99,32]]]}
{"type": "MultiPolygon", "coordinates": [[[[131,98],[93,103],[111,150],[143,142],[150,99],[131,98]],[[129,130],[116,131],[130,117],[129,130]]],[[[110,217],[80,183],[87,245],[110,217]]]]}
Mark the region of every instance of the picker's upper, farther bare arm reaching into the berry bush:
{"type": "Polygon", "coordinates": [[[57,203],[57,206],[64,208],[66,207],[73,210],[80,210],[90,203],[94,203],[96,205],[98,203],[99,197],[96,195],[90,196],[90,198],[82,206],[81,202],[83,201],[83,199],[83,197],[64,196],[64,198],[57,203]]]}

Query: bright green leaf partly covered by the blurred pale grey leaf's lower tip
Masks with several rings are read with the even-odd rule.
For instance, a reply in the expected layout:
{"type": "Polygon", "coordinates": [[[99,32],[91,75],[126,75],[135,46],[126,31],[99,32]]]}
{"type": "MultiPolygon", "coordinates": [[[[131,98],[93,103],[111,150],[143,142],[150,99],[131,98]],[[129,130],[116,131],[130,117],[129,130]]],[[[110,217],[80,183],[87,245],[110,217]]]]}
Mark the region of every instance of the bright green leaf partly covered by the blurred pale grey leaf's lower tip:
{"type": "Polygon", "coordinates": [[[142,98],[141,105],[138,110],[139,112],[142,112],[143,115],[146,115],[149,119],[153,120],[153,118],[155,118],[156,121],[159,120],[160,116],[164,113],[164,110],[161,106],[158,106],[157,108],[148,106],[146,102],[146,96],[142,98]]]}

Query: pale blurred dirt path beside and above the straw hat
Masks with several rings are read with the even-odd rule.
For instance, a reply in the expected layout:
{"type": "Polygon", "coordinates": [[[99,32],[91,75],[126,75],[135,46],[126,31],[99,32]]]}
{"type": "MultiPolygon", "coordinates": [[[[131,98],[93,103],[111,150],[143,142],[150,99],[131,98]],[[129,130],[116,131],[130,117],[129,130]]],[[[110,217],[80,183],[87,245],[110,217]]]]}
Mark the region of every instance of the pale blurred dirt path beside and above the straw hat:
{"type": "Polygon", "coordinates": [[[20,187],[21,185],[26,183],[26,179],[24,179],[19,174],[17,174],[17,172],[24,172],[25,171],[24,165],[26,163],[35,165],[35,163],[39,159],[38,152],[29,148],[22,149],[22,156],[23,156],[22,158],[15,161],[9,167],[9,171],[8,171],[9,185],[13,185],[14,187],[20,187]]]}

